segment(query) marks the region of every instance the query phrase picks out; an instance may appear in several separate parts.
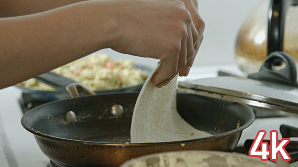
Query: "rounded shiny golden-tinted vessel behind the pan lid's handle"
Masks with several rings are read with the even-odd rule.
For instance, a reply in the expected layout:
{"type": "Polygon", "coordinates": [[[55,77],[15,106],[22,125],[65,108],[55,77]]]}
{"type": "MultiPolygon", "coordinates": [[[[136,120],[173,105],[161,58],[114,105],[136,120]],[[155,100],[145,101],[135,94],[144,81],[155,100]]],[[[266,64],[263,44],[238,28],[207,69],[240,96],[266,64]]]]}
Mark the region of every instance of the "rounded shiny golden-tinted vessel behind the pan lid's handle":
{"type": "MultiPolygon", "coordinates": [[[[270,3],[274,0],[261,0],[258,6],[245,19],[236,38],[235,60],[240,70],[246,74],[258,72],[265,61],[267,53],[268,39],[268,16],[270,14],[270,3]],[[269,11],[269,12],[268,12],[269,11]]],[[[283,0],[279,0],[283,1],[283,0]]],[[[284,0],[289,3],[290,0],[284,0]]],[[[278,2],[278,0],[275,2],[278,2]]],[[[298,65],[298,7],[287,5],[284,18],[284,31],[281,49],[289,53],[298,65]]],[[[278,16],[280,13],[274,12],[278,16]]],[[[278,32],[276,32],[278,33],[278,32]]]]}

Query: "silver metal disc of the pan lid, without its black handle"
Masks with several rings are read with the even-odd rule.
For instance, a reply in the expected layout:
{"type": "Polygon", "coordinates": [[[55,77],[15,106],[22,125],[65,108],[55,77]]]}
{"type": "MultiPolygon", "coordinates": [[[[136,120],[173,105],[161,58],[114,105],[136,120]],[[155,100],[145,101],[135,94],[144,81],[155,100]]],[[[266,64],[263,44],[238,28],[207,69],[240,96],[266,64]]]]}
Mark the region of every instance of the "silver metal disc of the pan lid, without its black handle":
{"type": "Polygon", "coordinates": [[[265,80],[218,76],[179,82],[180,92],[298,114],[298,88],[265,80]]]}

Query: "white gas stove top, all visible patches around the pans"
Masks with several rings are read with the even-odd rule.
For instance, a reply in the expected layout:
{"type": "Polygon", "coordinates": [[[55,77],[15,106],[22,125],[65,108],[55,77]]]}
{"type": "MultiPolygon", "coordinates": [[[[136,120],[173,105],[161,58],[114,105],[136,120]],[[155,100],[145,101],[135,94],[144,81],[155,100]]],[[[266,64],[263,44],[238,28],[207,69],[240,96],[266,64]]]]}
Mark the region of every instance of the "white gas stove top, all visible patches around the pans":
{"type": "MultiPolygon", "coordinates": [[[[205,67],[192,67],[187,77],[179,77],[179,81],[187,81],[205,77],[216,77],[218,71],[232,71],[236,75],[243,75],[238,67],[232,65],[217,65],[205,67]]],[[[33,135],[26,131],[21,123],[21,117],[27,110],[46,102],[38,101],[28,94],[23,94],[16,87],[0,90],[0,166],[2,167],[27,167],[27,166],[61,166],[50,161],[39,149],[33,135]]],[[[259,130],[277,130],[278,138],[282,136],[279,129],[281,125],[298,127],[298,117],[294,116],[259,116],[255,122],[242,133],[235,152],[247,153],[250,139],[254,139],[259,130]],[[245,149],[246,146],[246,149],[245,149]]],[[[297,132],[293,132],[296,133],[297,132]]],[[[295,135],[293,135],[295,136],[295,135]]],[[[265,136],[269,139],[269,133],[265,136]]],[[[292,148],[296,148],[295,138],[291,137],[292,148]]],[[[298,139],[296,139],[298,141],[298,139]]],[[[292,154],[297,154],[296,149],[289,148],[292,154]]],[[[294,157],[292,157],[294,159],[294,157]]],[[[298,162],[290,164],[297,167],[298,162]]]]}

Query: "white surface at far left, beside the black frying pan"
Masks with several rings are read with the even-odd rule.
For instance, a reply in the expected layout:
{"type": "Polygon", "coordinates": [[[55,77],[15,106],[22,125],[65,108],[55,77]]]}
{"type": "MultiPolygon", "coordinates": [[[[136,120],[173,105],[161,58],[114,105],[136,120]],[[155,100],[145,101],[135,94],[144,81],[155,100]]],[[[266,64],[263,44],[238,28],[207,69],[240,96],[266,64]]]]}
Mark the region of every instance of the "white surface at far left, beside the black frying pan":
{"type": "Polygon", "coordinates": [[[48,158],[21,125],[20,96],[21,91],[15,87],[0,90],[0,166],[46,166],[48,158]]]}

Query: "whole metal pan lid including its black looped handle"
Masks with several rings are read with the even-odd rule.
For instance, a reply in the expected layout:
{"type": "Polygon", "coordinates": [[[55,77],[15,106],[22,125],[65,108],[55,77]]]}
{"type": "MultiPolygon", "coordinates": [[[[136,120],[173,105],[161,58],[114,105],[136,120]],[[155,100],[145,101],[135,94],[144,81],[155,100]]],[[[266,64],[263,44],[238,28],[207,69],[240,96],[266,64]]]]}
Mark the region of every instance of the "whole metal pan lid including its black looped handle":
{"type": "Polygon", "coordinates": [[[298,114],[297,74],[291,56],[283,52],[273,52],[264,64],[260,72],[247,78],[218,76],[178,82],[179,92],[298,114]],[[283,66],[285,64],[285,67],[276,70],[268,65],[268,63],[276,65],[277,62],[283,66]]]}

